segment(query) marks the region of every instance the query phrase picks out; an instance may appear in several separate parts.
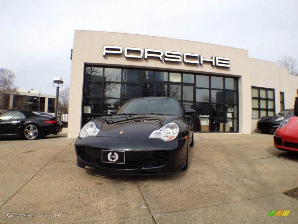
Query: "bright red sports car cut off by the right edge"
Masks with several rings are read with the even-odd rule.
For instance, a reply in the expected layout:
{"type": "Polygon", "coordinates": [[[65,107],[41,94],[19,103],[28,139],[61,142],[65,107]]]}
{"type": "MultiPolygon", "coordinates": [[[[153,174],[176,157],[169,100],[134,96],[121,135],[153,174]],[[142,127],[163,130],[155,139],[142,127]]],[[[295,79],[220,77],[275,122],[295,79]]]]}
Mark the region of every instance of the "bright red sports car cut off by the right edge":
{"type": "Polygon", "coordinates": [[[298,117],[285,119],[274,133],[274,146],[283,151],[298,152],[298,117]]]}

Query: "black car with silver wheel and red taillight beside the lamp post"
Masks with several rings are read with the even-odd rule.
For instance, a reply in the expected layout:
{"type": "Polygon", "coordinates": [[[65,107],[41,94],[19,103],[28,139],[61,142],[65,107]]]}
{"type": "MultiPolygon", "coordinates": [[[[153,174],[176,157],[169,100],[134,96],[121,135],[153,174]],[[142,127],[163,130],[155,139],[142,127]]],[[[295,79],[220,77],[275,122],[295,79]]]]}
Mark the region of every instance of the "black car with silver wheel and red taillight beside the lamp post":
{"type": "Polygon", "coordinates": [[[24,137],[35,140],[62,131],[59,117],[44,112],[12,110],[0,115],[0,137],[24,137]]]}

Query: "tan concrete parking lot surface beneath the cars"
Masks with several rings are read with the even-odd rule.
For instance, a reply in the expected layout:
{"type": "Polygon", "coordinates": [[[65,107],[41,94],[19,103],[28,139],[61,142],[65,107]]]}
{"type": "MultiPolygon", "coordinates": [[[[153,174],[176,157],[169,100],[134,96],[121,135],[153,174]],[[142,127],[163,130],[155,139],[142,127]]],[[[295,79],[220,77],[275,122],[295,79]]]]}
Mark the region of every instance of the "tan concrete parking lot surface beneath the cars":
{"type": "Polygon", "coordinates": [[[195,133],[188,170],[162,176],[78,168],[74,143],[65,132],[0,140],[0,223],[297,223],[283,192],[298,187],[298,154],[272,134],[195,133]]]}

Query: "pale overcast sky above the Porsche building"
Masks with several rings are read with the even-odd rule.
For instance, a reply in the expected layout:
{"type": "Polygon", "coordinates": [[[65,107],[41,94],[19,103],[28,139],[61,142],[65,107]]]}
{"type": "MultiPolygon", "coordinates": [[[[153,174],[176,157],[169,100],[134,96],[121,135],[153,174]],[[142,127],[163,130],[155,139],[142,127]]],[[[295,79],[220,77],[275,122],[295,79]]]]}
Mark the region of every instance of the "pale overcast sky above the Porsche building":
{"type": "Polygon", "coordinates": [[[0,67],[15,85],[55,95],[70,83],[75,30],[168,37],[298,60],[297,0],[0,0],[0,67]],[[61,58],[61,59],[59,59],[61,58]]]}

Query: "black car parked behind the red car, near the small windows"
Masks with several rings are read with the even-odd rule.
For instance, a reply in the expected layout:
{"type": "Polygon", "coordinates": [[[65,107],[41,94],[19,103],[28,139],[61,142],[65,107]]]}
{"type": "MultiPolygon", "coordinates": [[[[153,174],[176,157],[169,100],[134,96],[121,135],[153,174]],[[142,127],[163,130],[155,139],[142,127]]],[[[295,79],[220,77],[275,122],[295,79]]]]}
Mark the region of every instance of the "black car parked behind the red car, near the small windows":
{"type": "Polygon", "coordinates": [[[284,119],[293,117],[294,109],[286,109],[284,111],[279,112],[275,116],[265,116],[261,117],[257,122],[257,129],[262,131],[263,133],[269,133],[270,131],[275,131],[278,126],[280,126],[281,122],[284,119]]]}

